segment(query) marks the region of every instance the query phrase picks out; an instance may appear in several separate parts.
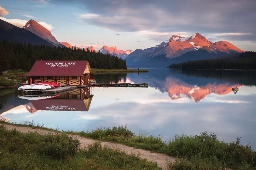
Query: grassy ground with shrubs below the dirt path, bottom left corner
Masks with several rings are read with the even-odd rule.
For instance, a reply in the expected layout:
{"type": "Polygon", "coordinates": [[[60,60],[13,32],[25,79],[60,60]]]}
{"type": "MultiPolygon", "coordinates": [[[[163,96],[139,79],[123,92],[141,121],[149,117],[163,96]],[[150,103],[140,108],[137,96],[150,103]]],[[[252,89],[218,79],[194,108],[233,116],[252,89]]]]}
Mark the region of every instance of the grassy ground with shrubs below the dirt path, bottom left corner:
{"type": "Polygon", "coordinates": [[[20,133],[0,126],[0,169],[160,169],[156,163],[95,142],[80,149],[67,134],[20,133]]]}

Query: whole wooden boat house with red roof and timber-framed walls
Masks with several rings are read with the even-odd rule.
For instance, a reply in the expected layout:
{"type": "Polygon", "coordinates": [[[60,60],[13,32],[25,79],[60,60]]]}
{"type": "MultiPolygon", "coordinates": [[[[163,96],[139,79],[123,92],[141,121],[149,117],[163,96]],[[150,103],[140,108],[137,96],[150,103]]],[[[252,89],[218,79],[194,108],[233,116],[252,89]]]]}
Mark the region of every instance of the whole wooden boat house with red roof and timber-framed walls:
{"type": "Polygon", "coordinates": [[[93,72],[88,61],[35,61],[29,73],[21,76],[22,80],[28,77],[28,84],[51,82],[85,85],[90,83],[91,74],[93,72]]]}

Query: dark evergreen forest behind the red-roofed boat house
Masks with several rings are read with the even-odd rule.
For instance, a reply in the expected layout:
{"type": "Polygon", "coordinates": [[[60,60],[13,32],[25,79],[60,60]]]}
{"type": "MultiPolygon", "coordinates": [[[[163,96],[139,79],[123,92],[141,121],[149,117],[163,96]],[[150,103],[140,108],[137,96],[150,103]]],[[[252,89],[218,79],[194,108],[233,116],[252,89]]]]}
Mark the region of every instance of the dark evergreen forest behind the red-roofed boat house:
{"type": "Polygon", "coordinates": [[[36,60],[88,60],[91,68],[127,69],[125,60],[100,51],[0,41],[0,71],[29,71],[36,60]]]}

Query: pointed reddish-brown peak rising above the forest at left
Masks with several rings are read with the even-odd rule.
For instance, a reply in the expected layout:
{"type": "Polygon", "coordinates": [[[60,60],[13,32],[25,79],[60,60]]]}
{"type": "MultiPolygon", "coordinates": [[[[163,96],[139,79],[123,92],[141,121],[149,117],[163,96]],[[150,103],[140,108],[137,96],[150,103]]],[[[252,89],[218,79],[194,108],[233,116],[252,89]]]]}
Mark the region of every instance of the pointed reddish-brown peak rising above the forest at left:
{"type": "Polygon", "coordinates": [[[45,27],[43,27],[33,19],[30,19],[26,23],[26,25],[23,26],[23,28],[45,39],[46,41],[48,41],[49,43],[55,46],[62,46],[61,43],[57,41],[57,39],[52,35],[52,33],[49,30],[47,30],[45,27]]]}

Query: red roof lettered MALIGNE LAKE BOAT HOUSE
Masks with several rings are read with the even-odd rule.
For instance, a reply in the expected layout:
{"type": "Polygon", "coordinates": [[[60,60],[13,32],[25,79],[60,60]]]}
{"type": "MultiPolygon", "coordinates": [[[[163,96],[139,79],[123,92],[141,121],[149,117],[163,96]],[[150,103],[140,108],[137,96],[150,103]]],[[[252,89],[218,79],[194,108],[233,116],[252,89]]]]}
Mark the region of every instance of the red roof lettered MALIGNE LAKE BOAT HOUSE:
{"type": "Polygon", "coordinates": [[[81,76],[88,61],[35,61],[23,76],[81,76]]]}

